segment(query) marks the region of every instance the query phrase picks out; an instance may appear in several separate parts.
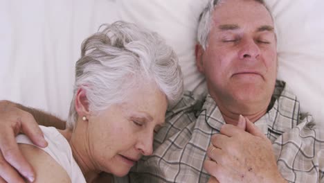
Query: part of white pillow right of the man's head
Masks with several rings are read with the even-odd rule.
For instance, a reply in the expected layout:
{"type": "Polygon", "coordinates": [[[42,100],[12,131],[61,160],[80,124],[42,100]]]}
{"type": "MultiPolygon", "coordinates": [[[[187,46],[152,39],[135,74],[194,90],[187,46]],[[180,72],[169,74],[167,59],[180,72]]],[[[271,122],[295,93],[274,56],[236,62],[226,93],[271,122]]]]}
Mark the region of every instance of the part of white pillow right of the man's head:
{"type": "Polygon", "coordinates": [[[266,0],[278,30],[278,78],[324,124],[324,1],[266,0]]]}

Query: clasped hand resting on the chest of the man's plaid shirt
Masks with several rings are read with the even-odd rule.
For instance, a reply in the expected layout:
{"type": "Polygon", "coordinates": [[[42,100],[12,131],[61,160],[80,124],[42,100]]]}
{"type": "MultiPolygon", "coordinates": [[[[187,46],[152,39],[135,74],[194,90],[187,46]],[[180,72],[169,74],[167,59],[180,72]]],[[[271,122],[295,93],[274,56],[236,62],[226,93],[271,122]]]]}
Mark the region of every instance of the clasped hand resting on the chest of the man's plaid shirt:
{"type": "Polygon", "coordinates": [[[211,139],[207,151],[210,160],[204,162],[204,168],[213,182],[285,182],[271,141],[249,119],[240,116],[240,121],[237,126],[224,125],[211,139]],[[242,121],[246,122],[245,131],[242,121]]]}

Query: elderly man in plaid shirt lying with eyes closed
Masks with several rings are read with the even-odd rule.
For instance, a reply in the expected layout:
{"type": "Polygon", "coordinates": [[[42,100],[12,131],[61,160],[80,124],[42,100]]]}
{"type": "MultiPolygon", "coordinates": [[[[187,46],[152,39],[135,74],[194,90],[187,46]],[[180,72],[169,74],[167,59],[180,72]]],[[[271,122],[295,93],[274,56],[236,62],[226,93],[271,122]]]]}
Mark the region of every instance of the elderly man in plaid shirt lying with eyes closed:
{"type": "MultiPolygon", "coordinates": [[[[276,80],[276,34],[264,2],[210,1],[198,29],[197,68],[206,76],[208,96],[185,94],[156,133],[154,154],[117,181],[324,182],[323,130],[300,112],[285,82],[276,80]]],[[[31,168],[4,139],[13,141],[12,129],[31,139],[40,135],[29,128],[33,119],[7,106],[1,114],[12,120],[1,119],[0,148],[27,177],[31,168]]],[[[39,139],[35,143],[42,145],[39,139]]],[[[1,177],[17,180],[1,161],[1,177]]]]}

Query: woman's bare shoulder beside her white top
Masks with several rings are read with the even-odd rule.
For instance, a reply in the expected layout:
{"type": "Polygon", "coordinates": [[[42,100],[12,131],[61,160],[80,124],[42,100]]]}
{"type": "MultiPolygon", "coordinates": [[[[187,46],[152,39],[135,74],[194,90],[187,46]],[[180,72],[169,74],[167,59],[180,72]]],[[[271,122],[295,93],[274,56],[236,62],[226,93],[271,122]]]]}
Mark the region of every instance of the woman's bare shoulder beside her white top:
{"type": "Polygon", "coordinates": [[[28,144],[19,144],[19,148],[35,170],[35,182],[71,183],[71,179],[64,168],[44,150],[28,144]]]}

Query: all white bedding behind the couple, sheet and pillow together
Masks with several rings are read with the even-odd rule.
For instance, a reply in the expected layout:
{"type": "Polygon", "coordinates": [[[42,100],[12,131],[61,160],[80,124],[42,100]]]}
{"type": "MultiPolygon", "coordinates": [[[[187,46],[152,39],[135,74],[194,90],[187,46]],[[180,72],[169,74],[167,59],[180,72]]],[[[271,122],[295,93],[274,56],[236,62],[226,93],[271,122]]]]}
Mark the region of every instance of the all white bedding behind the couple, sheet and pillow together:
{"type": "MultiPolygon", "coordinates": [[[[199,92],[204,78],[195,69],[194,46],[204,2],[0,0],[0,99],[66,118],[82,40],[117,19],[163,35],[179,55],[186,89],[199,92]]],[[[303,110],[324,123],[324,1],[266,2],[278,28],[278,77],[293,87],[303,110]]]]}

